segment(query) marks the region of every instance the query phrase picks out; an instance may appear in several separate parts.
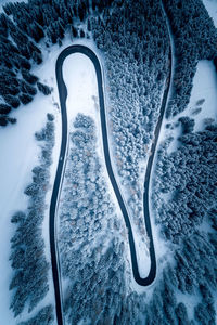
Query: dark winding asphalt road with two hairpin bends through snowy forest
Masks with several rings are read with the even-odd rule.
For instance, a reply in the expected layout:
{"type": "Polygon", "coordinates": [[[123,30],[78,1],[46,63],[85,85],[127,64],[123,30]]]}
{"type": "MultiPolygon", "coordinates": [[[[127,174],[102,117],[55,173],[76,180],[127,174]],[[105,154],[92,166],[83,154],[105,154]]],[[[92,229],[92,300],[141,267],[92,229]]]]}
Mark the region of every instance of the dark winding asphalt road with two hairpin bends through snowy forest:
{"type": "Polygon", "coordinates": [[[159,118],[155,128],[154,132],[154,142],[152,143],[151,147],[151,155],[148,160],[145,178],[144,178],[144,194],[143,194],[143,216],[144,222],[146,227],[146,233],[150,239],[150,259],[151,259],[151,268],[150,272],[146,277],[141,277],[138,270],[138,261],[137,261],[137,253],[135,247],[135,239],[132,234],[132,229],[130,224],[130,219],[128,216],[127,208],[125,206],[125,202],[122,197],[117,181],[115,179],[111,156],[110,156],[110,146],[108,146],[108,139],[107,139],[107,125],[106,125],[106,114],[105,114],[105,105],[104,105],[104,92],[103,92],[103,78],[102,78],[102,69],[99,62],[99,58],[94,54],[92,50],[85,46],[76,44],[71,46],[63,50],[58,57],[56,61],[56,80],[58,80],[58,88],[59,88],[59,96],[60,96],[60,104],[61,104],[61,115],[62,115],[62,142],[61,142],[61,152],[59,157],[58,170],[53,185],[53,192],[51,197],[51,205],[50,205],[50,249],[51,249],[51,263],[52,263],[52,273],[53,273],[53,283],[54,283],[54,294],[55,294],[55,308],[56,308],[56,318],[58,324],[64,324],[63,320],[63,306],[62,306],[62,287],[61,287],[61,272],[60,272],[60,259],[59,259],[59,250],[56,244],[56,229],[55,229],[55,214],[59,205],[59,195],[62,187],[62,179],[64,176],[65,169],[65,161],[66,161],[66,153],[67,153],[67,139],[68,139],[68,131],[67,131],[67,112],[66,112],[66,98],[67,98],[67,89],[63,80],[63,63],[64,60],[73,54],[73,53],[82,53],[87,55],[93,63],[97,74],[98,80],[98,91],[99,91],[99,103],[100,103],[100,119],[101,119],[101,130],[102,130],[102,140],[103,140],[103,151],[104,151],[104,158],[105,165],[107,169],[107,173],[110,177],[110,181],[112,183],[114,193],[116,195],[119,208],[122,210],[126,227],[128,230],[128,239],[129,239],[129,248],[130,248],[130,256],[131,256],[131,265],[132,265],[132,274],[135,281],[140,286],[149,286],[153,283],[156,276],[156,258],[155,258],[155,250],[154,250],[154,243],[152,236],[152,227],[151,227],[151,220],[150,220],[150,209],[149,209],[149,186],[150,186],[150,176],[153,165],[154,155],[156,152],[157,140],[159,135],[159,130],[162,126],[162,120],[164,117],[165,107],[167,104],[168,92],[170,89],[170,77],[171,77],[171,48],[169,51],[169,62],[170,68],[168,74],[168,79],[166,82],[166,87],[164,90],[162,106],[159,110],[159,118]]]}

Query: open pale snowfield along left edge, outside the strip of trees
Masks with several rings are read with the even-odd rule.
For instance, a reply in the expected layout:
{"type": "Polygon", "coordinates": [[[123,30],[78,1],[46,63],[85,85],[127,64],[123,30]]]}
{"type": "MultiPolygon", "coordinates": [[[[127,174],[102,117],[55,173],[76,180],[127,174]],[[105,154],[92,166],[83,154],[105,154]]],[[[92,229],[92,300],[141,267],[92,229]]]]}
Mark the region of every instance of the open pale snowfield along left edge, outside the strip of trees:
{"type": "Polygon", "coordinates": [[[40,152],[34,133],[44,125],[47,112],[53,112],[51,99],[38,94],[34,103],[13,113],[13,116],[17,118],[15,126],[0,130],[0,229],[2,230],[0,236],[0,322],[2,324],[15,324],[9,311],[12,296],[9,291],[12,278],[9,262],[10,239],[15,231],[10,220],[14,211],[25,210],[27,207],[27,196],[23,192],[31,181],[31,169],[38,164],[40,152]]]}

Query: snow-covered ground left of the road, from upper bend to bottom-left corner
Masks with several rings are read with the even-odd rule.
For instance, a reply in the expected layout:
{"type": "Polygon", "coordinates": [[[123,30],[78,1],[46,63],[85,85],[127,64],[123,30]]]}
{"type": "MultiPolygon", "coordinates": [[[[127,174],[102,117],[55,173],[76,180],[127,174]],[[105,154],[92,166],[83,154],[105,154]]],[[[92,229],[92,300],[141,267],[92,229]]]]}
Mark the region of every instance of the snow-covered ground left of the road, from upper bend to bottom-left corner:
{"type": "MultiPolygon", "coordinates": [[[[69,38],[66,38],[63,47],[69,46],[72,42],[69,38]]],[[[16,110],[11,113],[11,117],[17,118],[17,123],[14,126],[8,126],[0,128],[0,324],[14,325],[21,320],[25,320],[30,315],[35,315],[37,310],[44,303],[52,303],[53,297],[53,284],[51,271],[49,274],[50,291],[43,300],[43,304],[39,306],[33,311],[31,314],[27,314],[27,311],[13,318],[13,314],[10,311],[10,301],[13,295],[9,291],[9,284],[12,278],[12,269],[9,262],[10,256],[10,239],[14,234],[15,226],[11,224],[11,217],[16,210],[25,210],[27,208],[27,196],[23,194],[24,188],[31,182],[31,169],[38,164],[38,154],[40,148],[36,142],[34,134],[39,131],[46,123],[47,113],[52,113],[55,116],[55,147],[53,151],[53,165],[51,167],[51,184],[53,184],[58,155],[60,150],[60,130],[61,119],[60,109],[58,105],[59,95],[55,81],[55,61],[60,52],[63,50],[58,46],[52,48],[52,51],[46,52],[43,55],[43,62],[40,66],[34,66],[33,73],[41,77],[42,82],[47,82],[53,87],[53,92],[50,96],[44,96],[38,93],[34,102],[24,106],[22,105],[16,110]]],[[[49,207],[51,196],[51,187],[47,196],[47,204],[49,207]]],[[[50,260],[50,246],[49,246],[49,209],[47,209],[46,219],[43,222],[43,234],[46,240],[46,255],[50,260]]]]}

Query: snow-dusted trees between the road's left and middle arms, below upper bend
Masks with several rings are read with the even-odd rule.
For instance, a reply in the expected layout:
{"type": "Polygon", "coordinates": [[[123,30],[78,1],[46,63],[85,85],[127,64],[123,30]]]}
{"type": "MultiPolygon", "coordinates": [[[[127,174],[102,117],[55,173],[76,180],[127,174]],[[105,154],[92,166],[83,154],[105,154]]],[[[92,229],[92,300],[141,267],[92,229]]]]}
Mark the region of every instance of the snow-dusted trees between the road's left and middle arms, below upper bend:
{"type": "Polygon", "coordinates": [[[126,295],[123,236],[127,234],[102,177],[94,122],[81,114],[71,132],[59,218],[66,320],[68,324],[82,318],[110,323],[120,313],[126,295]]]}

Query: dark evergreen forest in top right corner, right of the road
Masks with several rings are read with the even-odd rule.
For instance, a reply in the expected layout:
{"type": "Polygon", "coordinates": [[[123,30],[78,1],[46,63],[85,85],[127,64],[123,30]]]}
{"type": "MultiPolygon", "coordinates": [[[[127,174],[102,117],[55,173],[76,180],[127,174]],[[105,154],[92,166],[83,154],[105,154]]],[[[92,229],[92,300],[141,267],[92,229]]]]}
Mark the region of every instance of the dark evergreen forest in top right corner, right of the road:
{"type": "Polygon", "coordinates": [[[182,112],[190,100],[200,60],[217,56],[217,31],[201,0],[163,0],[175,44],[174,95],[167,117],[182,112]]]}

